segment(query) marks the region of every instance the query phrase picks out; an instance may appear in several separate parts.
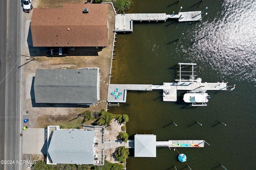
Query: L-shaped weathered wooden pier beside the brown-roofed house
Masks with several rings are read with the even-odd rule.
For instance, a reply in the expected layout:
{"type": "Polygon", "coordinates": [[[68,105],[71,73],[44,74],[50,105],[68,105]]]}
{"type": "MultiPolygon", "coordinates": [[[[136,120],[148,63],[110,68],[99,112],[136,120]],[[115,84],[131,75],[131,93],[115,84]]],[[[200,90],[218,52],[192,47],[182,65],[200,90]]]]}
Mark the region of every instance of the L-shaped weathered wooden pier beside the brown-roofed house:
{"type": "Polygon", "coordinates": [[[178,14],[148,13],[148,14],[116,14],[115,32],[132,32],[133,21],[166,21],[176,19],[178,22],[201,21],[201,11],[179,12],[178,14]]]}

